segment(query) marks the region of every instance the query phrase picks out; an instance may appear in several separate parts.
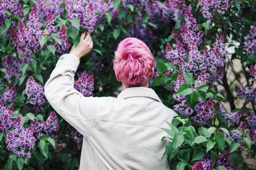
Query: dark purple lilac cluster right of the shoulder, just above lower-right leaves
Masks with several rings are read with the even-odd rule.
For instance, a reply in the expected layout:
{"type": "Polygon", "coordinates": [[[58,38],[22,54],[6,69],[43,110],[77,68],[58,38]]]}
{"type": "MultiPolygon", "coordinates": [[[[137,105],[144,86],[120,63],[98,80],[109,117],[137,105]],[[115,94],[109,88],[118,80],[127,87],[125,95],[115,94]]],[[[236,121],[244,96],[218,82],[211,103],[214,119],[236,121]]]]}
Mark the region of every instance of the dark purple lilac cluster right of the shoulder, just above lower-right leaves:
{"type": "Polygon", "coordinates": [[[201,125],[207,125],[210,118],[214,116],[213,98],[209,98],[207,102],[198,103],[193,108],[195,116],[191,119],[194,123],[199,123],[201,125]]]}

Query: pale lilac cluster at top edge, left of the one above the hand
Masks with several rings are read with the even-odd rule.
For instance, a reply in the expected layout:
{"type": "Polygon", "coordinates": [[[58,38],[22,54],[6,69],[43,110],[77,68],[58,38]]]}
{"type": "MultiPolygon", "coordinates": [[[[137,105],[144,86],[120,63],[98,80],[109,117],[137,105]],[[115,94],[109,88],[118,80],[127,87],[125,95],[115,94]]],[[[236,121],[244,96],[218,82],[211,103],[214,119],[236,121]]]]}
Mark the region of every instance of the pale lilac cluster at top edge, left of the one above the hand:
{"type": "Polygon", "coordinates": [[[61,6],[61,3],[64,0],[37,0],[38,6],[38,15],[39,18],[45,18],[49,13],[53,15],[54,18],[59,18],[64,12],[64,7],[61,6]]]}

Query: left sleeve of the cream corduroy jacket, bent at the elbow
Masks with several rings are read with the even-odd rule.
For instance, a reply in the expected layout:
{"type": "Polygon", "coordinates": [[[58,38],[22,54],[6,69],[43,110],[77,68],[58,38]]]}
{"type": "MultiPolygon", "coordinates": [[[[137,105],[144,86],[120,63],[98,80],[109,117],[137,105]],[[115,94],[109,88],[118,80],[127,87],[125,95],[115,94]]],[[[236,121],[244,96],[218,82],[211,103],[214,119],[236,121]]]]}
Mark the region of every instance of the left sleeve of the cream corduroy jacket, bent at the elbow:
{"type": "Polygon", "coordinates": [[[74,55],[62,55],[45,84],[44,95],[61,117],[87,137],[98,98],[84,97],[74,88],[74,75],[79,62],[79,58],[74,55]]]}

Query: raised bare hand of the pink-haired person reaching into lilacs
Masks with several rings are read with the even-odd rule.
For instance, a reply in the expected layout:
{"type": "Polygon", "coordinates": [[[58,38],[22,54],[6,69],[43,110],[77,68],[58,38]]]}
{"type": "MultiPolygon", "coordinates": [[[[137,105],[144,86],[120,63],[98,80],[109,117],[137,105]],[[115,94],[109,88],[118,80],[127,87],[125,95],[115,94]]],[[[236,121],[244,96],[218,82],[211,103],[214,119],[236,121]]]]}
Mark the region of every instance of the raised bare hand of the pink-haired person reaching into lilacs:
{"type": "Polygon", "coordinates": [[[80,59],[85,54],[88,54],[92,48],[93,48],[92,37],[90,37],[90,33],[84,32],[81,34],[79,44],[76,47],[75,45],[73,45],[69,54],[73,54],[74,56],[80,59]]]}

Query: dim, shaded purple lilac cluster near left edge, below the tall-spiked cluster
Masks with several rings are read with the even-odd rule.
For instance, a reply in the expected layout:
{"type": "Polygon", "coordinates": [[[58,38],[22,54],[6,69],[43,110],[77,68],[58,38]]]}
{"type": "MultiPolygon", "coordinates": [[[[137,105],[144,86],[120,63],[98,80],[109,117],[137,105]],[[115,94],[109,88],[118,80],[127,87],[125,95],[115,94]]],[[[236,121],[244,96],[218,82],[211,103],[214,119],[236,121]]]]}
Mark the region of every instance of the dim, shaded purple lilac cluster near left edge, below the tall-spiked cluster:
{"type": "Polygon", "coordinates": [[[16,76],[18,79],[21,77],[20,71],[20,62],[18,59],[12,59],[10,56],[7,56],[3,59],[5,63],[5,74],[7,81],[10,81],[13,76],[16,76]]]}

